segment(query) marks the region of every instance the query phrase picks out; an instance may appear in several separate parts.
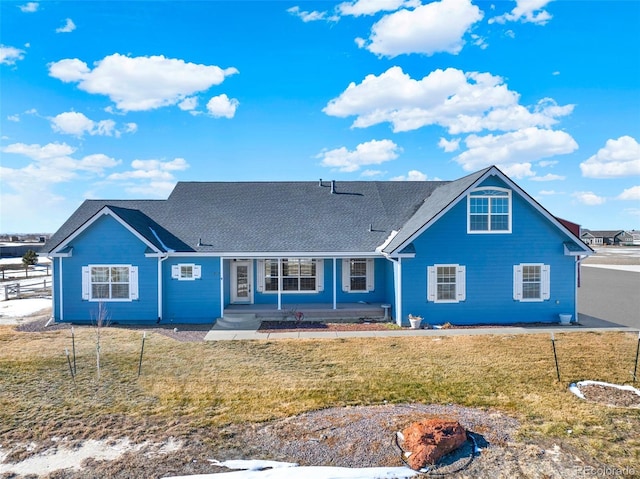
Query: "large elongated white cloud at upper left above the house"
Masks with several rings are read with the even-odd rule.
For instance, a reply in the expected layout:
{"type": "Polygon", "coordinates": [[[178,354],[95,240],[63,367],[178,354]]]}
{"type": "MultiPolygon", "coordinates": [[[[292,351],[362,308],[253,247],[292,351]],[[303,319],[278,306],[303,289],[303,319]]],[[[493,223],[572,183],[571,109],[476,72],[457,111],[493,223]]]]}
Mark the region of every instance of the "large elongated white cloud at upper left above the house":
{"type": "Polygon", "coordinates": [[[93,69],[77,58],[49,64],[49,75],[77,82],[80,90],[108,96],[122,111],[145,111],[175,105],[194,93],[219,85],[235,68],[187,63],[162,55],[128,57],[115,53],[93,69]]]}

